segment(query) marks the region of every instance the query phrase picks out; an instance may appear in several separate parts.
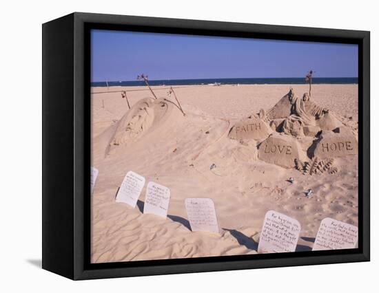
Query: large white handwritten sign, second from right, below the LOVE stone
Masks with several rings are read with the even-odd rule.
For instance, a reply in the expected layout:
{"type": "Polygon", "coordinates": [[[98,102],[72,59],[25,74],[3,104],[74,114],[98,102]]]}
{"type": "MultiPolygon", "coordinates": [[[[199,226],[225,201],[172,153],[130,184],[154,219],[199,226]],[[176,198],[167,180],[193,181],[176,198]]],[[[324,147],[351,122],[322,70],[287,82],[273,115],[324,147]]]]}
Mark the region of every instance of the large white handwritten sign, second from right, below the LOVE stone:
{"type": "Polygon", "coordinates": [[[258,252],[294,252],[300,229],[296,219],[269,210],[260,233],[258,252]]]}

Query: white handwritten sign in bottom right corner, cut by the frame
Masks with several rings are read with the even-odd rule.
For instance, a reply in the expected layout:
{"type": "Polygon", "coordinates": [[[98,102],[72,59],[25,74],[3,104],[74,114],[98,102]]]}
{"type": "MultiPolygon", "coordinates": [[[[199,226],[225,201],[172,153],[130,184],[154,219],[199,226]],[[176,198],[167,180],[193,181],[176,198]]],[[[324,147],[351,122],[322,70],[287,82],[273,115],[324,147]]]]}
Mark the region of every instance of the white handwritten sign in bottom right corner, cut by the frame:
{"type": "Polygon", "coordinates": [[[356,248],[358,242],[358,227],[325,218],[318,228],[312,250],[331,250],[356,248]]]}

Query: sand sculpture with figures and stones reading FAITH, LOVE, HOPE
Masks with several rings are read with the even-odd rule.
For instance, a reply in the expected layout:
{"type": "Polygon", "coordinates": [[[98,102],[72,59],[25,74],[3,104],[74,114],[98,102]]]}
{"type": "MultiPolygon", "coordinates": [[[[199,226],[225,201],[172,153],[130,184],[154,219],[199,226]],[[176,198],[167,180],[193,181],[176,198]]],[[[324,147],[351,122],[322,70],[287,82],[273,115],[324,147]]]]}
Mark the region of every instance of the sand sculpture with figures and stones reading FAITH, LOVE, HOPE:
{"type": "Polygon", "coordinates": [[[358,154],[354,129],[308,93],[299,98],[293,89],[271,109],[234,124],[229,138],[257,140],[260,160],[309,175],[336,173],[334,158],[358,154]],[[299,144],[302,138],[311,141],[306,150],[299,144]]]}

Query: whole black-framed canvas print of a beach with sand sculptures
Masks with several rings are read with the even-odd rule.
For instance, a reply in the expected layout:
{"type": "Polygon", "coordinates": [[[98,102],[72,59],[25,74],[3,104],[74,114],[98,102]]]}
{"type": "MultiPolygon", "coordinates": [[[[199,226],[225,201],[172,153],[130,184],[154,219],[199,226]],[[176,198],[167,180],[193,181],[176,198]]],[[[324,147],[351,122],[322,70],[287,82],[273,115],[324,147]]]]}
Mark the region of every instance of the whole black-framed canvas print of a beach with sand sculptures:
{"type": "Polygon", "coordinates": [[[43,268],[369,261],[369,32],[43,24],[43,268]]]}

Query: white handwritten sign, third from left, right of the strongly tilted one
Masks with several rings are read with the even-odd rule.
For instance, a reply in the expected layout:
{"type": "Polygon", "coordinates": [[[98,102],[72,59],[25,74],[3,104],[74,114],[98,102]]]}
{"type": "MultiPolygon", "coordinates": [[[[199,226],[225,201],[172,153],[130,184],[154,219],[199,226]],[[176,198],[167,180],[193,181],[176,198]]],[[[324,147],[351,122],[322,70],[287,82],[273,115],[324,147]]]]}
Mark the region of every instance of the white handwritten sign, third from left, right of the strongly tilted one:
{"type": "Polygon", "coordinates": [[[155,182],[149,182],[146,188],[144,214],[154,214],[167,217],[170,204],[170,189],[155,182]]]}

